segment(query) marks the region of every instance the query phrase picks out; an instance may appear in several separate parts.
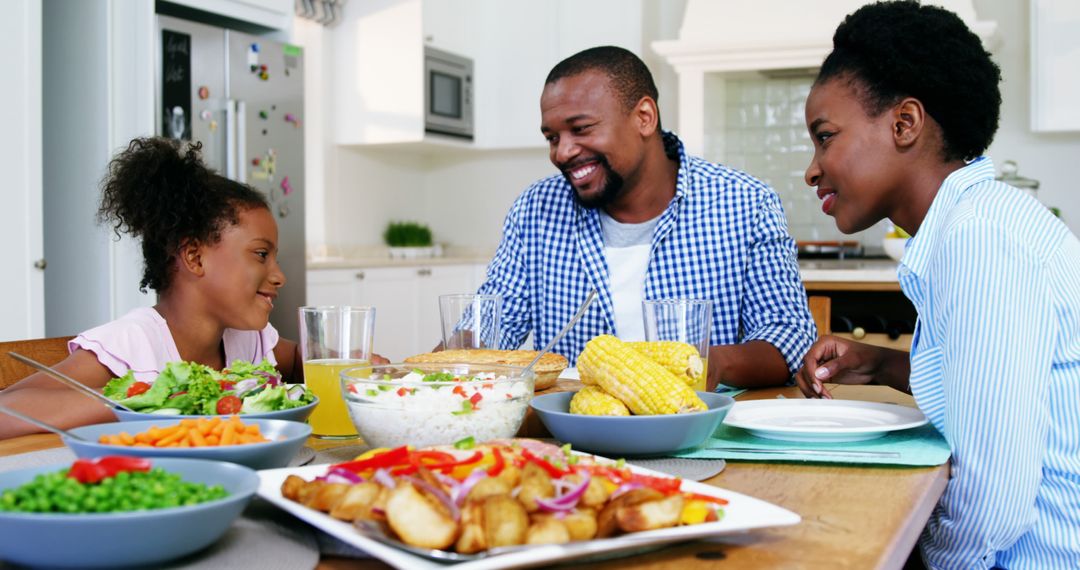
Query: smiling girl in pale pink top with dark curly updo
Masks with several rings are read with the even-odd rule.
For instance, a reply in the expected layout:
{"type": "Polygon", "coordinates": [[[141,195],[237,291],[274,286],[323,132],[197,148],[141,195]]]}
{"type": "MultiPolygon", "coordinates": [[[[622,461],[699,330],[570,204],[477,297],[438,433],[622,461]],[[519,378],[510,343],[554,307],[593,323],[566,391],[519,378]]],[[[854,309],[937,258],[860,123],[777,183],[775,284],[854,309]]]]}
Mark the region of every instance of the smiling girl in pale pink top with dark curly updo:
{"type": "MultiPolygon", "coordinates": [[[[158,304],[82,332],[55,368],[92,388],[133,370],[152,381],[172,361],[221,369],[233,359],[275,363],[302,381],[297,344],[269,323],[285,275],[278,225],[258,191],[206,168],[200,145],[138,138],[109,165],[98,218],[143,241],[139,284],[158,304]]],[[[105,406],[42,374],[0,392],[0,402],[60,428],[113,421],[105,406]]],[[[0,438],[39,431],[0,415],[0,438]]]]}

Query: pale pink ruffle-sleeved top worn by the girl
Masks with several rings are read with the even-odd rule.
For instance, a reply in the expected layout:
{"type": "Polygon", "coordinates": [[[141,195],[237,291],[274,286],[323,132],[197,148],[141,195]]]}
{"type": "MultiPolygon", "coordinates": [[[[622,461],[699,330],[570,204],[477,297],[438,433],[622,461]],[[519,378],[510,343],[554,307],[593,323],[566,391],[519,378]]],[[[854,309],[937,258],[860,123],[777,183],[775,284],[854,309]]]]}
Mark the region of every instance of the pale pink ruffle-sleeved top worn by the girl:
{"type": "MultiPolygon", "coordinates": [[[[278,330],[267,323],[262,330],[225,329],[225,362],[243,359],[258,364],[264,357],[278,364],[273,348],[278,330]]],[[[92,328],[68,342],[68,352],[93,352],[117,377],[135,372],[135,379],[153,382],[165,363],[181,359],[168,325],[158,311],[144,307],[120,318],[92,328]]]]}

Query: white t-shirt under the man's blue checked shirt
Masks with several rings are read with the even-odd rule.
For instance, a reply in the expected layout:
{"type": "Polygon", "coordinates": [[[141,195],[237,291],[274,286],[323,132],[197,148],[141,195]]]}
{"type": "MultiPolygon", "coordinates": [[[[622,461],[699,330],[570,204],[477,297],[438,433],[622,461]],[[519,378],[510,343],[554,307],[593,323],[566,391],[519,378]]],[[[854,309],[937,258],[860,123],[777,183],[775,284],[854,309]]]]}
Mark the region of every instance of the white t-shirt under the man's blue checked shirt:
{"type": "Polygon", "coordinates": [[[645,340],[645,320],[642,316],[645,273],[649,269],[652,232],[660,216],[640,223],[621,223],[604,211],[599,215],[616,336],[625,341],[645,340]]]}

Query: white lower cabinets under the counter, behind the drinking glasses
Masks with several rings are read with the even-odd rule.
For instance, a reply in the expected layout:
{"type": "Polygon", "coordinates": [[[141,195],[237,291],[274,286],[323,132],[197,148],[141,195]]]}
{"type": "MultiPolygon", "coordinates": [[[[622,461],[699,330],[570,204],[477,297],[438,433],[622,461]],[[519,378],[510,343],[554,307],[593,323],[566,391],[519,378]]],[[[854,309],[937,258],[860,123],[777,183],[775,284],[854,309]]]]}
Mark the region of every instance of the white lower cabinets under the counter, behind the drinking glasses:
{"type": "Polygon", "coordinates": [[[428,352],[442,340],[438,296],[474,293],[484,267],[463,263],[309,270],[307,302],[375,307],[375,351],[399,362],[428,352]]]}

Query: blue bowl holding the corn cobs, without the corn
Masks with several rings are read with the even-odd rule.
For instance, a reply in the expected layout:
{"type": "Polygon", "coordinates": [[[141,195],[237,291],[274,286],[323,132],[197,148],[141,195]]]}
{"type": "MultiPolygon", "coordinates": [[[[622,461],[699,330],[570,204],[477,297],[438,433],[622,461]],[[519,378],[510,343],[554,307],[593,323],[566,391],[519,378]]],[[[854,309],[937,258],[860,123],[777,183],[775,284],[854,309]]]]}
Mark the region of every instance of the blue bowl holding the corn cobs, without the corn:
{"type": "Polygon", "coordinates": [[[577,392],[536,396],[529,404],[559,442],[573,449],[608,457],[671,456],[705,443],[735,401],[698,392],[707,411],[669,416],[579,416],[570,413],[577,392]]]}

